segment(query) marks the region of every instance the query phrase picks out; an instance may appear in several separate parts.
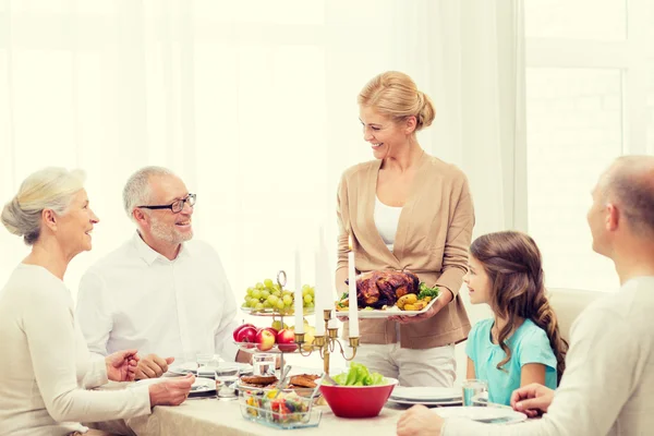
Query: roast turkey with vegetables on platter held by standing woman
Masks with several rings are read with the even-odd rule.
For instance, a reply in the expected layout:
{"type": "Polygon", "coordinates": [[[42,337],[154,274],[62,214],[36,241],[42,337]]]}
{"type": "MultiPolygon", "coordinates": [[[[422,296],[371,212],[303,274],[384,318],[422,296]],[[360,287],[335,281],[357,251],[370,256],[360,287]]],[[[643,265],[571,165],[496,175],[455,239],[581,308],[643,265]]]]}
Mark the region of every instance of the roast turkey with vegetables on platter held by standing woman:
{"type": "MultiPolygon", "coordinates": [[[[388,318],[416,316],[434,305],[440,291],[421,282],[409,271],[370,271],[356,277],[359,318],[388,318]]],[[[336,311],[347,316],[349,295],[343,293],[336,302],[336,311]]]]}

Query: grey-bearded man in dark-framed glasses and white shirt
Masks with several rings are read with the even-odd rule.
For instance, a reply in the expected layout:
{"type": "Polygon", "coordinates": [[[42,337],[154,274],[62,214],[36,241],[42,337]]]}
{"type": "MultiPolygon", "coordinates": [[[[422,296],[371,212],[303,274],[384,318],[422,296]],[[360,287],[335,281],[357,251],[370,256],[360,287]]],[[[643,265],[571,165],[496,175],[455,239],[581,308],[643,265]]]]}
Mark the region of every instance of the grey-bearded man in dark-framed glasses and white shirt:
{"type": "Polygon", "coordinates": [[[123,190],[135,234],[82,277],[77,318],[92,352],[137,349],[137,378],[159,377],[174,360],[238,356],[237,302],[218,253],[193,240],[195,194],[172,171],[146,167],[123,190]]]}

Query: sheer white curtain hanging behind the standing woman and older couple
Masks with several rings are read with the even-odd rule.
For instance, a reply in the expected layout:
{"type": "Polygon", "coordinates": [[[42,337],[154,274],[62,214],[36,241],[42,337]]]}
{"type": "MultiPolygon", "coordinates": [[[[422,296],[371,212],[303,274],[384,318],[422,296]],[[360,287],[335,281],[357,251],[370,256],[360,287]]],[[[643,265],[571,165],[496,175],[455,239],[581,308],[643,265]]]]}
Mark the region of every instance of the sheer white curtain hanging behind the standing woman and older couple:
{"type": "MultiPolygon", "coordinates": [[[[86,170],[101,221],[94,250],[69,269],[75,294],[84,270],[133,231],[121,207],[128,175],[162,165],[197,193],[196,238],[219,251],[239,300],[278,269],[290,277],[296,246],[312,283],[320,227],[335,265],[339,175],[372,158],[358,92],[400,70],[436,105],[419,140],[467,172],[475,233],[513,227],[519,5],[0,0],[0,199],[41,167],[86,170]]],[[[4,282],[27,249],[4,230],[0,244],[4,282]]]]}

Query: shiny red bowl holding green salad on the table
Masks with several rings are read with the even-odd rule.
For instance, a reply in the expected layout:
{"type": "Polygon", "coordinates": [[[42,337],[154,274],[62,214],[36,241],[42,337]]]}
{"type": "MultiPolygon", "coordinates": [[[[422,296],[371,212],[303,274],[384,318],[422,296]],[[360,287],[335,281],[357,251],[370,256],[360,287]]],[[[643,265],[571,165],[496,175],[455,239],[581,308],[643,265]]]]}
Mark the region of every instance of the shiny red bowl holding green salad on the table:
{"type": "Polygon", "coordinates": [[[377,386],[322,385],[320,392],[337,416],[374,417],[398,384],[396,378],[386,377],[386,385],[377,386]]]}

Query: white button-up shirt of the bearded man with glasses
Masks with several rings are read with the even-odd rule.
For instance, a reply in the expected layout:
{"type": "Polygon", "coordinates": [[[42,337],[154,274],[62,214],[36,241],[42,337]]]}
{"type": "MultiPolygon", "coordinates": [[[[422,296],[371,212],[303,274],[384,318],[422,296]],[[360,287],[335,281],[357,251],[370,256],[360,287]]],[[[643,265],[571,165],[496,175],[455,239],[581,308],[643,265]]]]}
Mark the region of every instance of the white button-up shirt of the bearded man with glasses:
{"type": "Polygon", "coordinates": [[[175,361],[217,353],[234,361],[237,302],[218,253],[192,240],[170,261],[138,235],[82,277],[77,318],[90,351],[137,349],[175,361]]]}

